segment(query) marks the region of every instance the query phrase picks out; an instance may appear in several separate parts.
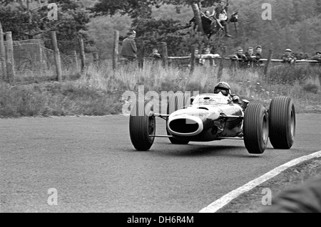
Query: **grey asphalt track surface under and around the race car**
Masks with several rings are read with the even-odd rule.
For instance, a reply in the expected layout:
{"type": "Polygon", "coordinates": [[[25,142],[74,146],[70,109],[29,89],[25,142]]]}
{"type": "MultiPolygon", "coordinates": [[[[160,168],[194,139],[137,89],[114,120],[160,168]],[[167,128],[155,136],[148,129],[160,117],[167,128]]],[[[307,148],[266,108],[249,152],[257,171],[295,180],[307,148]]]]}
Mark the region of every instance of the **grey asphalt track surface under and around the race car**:
{"type": "MultiPolygon", "coordinates": [[[[297,115],[290,150],[251,155],[243,141],[136,152],[128,117],[0,119],[0,212],[198,212],[292,159],[320,151],[321,115],[297,115]],[[49,189],[58,205],[49,206],[49,189]]],[[[157,121],[165,134],[165,122],[157,121]]]]}

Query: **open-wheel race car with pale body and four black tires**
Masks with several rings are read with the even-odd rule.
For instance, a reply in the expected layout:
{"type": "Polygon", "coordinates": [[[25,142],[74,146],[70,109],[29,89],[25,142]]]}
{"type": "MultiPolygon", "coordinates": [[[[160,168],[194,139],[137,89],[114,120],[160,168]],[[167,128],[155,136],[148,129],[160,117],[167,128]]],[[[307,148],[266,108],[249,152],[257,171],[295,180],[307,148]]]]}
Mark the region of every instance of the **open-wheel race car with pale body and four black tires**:
{"type": "Polygon", "coordinates": [[[275,149],[290,149],[295,125],[290,97],[275,97],[265,108],[248,100],[234,103],[214,93],[195,97],[175,93],[168,100],[167,114],[153,112],[151,102],[136,102],[129,120],[131,142],[138,151],[151,149],[155,137],[168,137],[172,144],[243,139],[250,154],[263,154],[269,138],[275,149]],[[166,135],[156,134],[156,117],[165,120],[166,135]]]}

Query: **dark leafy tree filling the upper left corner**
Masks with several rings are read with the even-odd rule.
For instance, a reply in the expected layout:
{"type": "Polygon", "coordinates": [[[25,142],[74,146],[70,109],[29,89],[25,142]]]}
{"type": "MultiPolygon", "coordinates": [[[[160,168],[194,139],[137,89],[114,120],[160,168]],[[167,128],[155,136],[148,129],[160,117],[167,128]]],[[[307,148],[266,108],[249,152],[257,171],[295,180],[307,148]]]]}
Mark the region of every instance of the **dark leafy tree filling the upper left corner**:
{"type": "Polygon", "coordinates": [[[36,36],[57,31],[58,39],[71,40],[79,31],[86,29],[89,21],[88,10],[83,9],[76,0],[61,0],[58,6],[58,20],[49,20],[48,4],[56,1],[1,0],[0,21],[4,31],[11,31],[15,40],[35,38],[36,36]]]}

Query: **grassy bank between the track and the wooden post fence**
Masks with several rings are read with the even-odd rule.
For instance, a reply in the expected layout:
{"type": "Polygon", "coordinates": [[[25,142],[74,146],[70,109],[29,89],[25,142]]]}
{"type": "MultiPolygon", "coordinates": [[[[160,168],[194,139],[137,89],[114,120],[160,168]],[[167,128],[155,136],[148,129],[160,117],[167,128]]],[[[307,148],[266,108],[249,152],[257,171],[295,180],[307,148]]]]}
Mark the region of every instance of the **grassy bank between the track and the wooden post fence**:
{"type": "MultiPolygon", "coordinates": [[[[113,74],[111,67],[89,67],[83,75],[68,75],[63,83],[46,78],[16,77],[11,84],[0,83],[0,117],[35,117],[67,115],[111,115],[121,113],[126,90],[137,93],[138,85],[148,91],[199,91],[211,93],[217,68],[130,68],[113,74]],[[44,80],[45,79],[45,80],[44,80]]],[[[286,95],[295,102],[297,112],[321,112],[321,67],[279,66],[271,68],[270,83],[260,73],[229,69],[221,80],[230,83],[233,93],[243,99],[268,105],[272,97],[286,95]]]]}

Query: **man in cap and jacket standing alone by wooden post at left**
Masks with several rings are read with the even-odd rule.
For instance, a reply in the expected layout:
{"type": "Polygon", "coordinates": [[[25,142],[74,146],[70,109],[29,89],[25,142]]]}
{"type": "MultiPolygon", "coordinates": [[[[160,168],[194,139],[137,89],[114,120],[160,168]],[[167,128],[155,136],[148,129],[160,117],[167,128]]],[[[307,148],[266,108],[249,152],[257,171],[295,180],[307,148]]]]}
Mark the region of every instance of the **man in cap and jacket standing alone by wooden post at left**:
{"type": "Polygon", "coordinates": [[[127,38],[123,40],[123,48],[121,50],[121,56],[126,58],[127,63],[136,60],[137,47],[136,47],[136,31],[130,31],[127,34],[127,38]]]}

